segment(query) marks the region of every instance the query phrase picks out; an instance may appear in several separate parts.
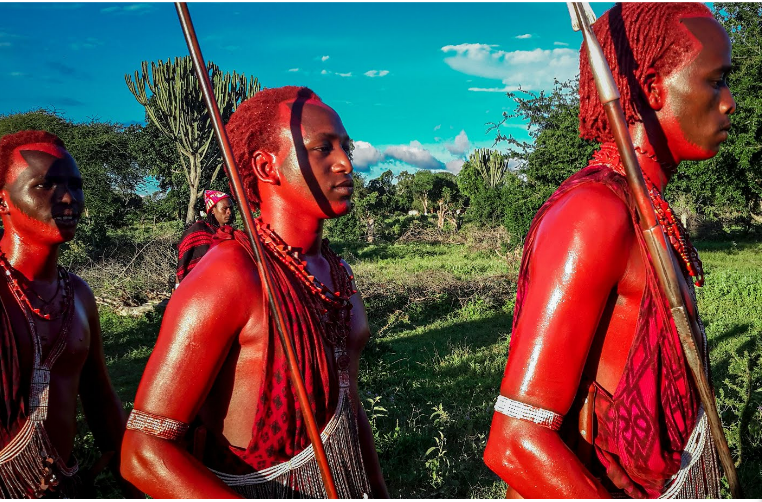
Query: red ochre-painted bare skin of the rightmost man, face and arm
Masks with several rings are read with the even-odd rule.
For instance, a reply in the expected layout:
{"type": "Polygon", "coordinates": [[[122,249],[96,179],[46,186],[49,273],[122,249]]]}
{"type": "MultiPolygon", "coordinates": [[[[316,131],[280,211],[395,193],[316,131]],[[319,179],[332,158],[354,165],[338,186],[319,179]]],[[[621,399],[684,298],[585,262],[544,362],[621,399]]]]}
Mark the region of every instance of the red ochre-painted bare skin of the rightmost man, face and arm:
{"type": "MultiPolygon", "coordinates": [[[[643,87],[653,113],[630,127],[639,150],[666,161],[662,167],[638,156],[660,190],[680,161],[717,153],[735,111],[725,81],[727,34],[713,19],[683,22],[700,52],[666,76],[651,74],[643,87]]],[[[583,371],[614,393],[646,282],[635,231],[627,208],[603,186],[583,185],[546,214],[514,333],[519,343],[511,345],[500,394],[565,415],[583,371]]],[[[609,497],[558,433],[500,413],[494,414],[484,461],[511,487],[510,498],[609,497]]]]}

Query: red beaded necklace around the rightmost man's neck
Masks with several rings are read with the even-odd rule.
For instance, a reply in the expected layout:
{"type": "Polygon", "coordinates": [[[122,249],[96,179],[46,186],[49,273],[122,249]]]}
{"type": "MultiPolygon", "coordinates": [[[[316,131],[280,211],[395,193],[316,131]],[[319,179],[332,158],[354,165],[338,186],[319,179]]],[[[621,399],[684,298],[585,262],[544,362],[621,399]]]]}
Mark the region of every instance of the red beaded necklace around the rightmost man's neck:
{"type": "MultiPolygon", "coordinates": [[[[589,165],[605,165],[614,172],[625,176],[622,159],[614,143],[604,143],[601,149],[595,152],[589,165]]],[[[643,173],[643,179],[648,187],[648,196],[654,206],[656,218],[659,220],[661,228],[669,239],[672,248],[680,256],[683,266],[688,274],[693,278],[696,286],[704,285],[704,269],[699,259],[698,251],[688,237],[688,231],[683,227],[675,213],[664,199],[656,185],[643,173]]]]}

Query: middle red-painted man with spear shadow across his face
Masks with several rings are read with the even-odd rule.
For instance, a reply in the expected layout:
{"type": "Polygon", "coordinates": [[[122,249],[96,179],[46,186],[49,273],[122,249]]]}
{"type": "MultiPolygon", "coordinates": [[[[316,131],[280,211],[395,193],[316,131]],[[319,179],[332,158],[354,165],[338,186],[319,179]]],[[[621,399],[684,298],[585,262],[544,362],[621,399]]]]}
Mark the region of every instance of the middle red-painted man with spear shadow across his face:
{"type": "MultiPolygon", "coordinates": [[[[257,93],[227,131],[339,495],[386,496],[357,392],[368,321],[348,265],[322,239],[324,220],[351,209],[349,136],[297,87],[257,93]]],[[[215,239],[167,305],[122,471],[153,497],[324,497],[251,249],[240,232],[215,239]],[[191,422],[203,447],[186,437],[191,422]]]]}

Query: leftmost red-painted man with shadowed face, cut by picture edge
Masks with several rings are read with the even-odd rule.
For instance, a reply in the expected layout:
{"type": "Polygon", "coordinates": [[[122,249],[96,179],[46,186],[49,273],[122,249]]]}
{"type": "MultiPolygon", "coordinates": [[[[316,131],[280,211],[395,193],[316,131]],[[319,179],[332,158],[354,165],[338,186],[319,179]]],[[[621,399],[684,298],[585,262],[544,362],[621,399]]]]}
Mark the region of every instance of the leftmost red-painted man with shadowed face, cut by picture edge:
{"type": "Polygon", "coordinates": [[[72,496],[77,396],[96,444],[116,453],[117,476],[125,424],[93,293],[58,265],[83,209],[82,178],[60,139],[21,131],[0,141],[0,183],[0,496],[72,496]]]}

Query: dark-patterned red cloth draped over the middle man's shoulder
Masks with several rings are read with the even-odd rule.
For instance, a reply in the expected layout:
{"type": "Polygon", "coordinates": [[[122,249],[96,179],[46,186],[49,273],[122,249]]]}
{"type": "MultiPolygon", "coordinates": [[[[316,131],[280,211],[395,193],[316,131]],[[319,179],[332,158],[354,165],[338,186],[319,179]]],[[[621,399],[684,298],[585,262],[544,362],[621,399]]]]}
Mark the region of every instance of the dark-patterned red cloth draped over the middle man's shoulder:
{"type": "MultiPolygon", "coordinates": [[[[243,246],[253,259],[246,235],[229,226],[217,231],[212,246],[231,239],[243,246]]],[[[326,354],[323,328],[317,314],[308,311],[300,299],[304,294],[302,283],[269,251],[265,251],[265,259],[276,286],[275,293],[284,307],[286,326],[310,407],[318,430],[322,431],[338,404],[339,383],[333,357],[326,354]]],[[[301,406],[291,386],[286,356],[271,316],[267,347],[266,364],[262,368],[265,379],[258,396],[251,441],[245,450],[230,447],[230,451],[255,470],[288,461],[310,444],[301,406]]]]}

